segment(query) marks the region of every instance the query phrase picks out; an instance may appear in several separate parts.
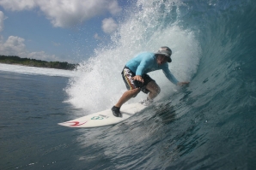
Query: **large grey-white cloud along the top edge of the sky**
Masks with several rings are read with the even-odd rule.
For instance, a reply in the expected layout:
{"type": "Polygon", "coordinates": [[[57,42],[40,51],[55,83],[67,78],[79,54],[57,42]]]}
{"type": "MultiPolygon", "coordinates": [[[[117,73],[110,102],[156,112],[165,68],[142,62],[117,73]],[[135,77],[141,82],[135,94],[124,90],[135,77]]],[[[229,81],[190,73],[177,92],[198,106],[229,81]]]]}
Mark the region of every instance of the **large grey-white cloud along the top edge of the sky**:
{"type": "Polygon", "coordinates": [[[21,11],[40,8],[56,27],[69,27],[88,21],[97,15],[121,11],[117,0],[0,0],[4,9],[21,11]]]}

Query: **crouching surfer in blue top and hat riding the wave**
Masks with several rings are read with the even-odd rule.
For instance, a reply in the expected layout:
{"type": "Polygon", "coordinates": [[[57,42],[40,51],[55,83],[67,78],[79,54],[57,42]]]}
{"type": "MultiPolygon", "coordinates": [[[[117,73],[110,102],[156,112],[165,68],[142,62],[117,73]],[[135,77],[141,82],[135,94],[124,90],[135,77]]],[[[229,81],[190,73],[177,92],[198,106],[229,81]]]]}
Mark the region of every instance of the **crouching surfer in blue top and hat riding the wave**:
{"type": "Polygon", "coordinates": [[[113,106],[112,111],[114,116],[122,117],[120,113],[121,106],[130,100],[131,97],[136,97],[140,91],[148,94],[147,99],[141,102],[143,105],[148,106],[153,102],[153,99],[160,93],[161,89],[155,83],[155,80],[149,77],[147,74],[149,72],[162,69],[165,76],[174,85],[189,84],[189,82],[179,82],[170,72],[168,62],[172,62],[171,56],[172,50],[167,46],[163,46],[156,53],[141,53],[125,64],[122,77],[125,81],[127,91],[120,97],[119,102],[113,106]]]}

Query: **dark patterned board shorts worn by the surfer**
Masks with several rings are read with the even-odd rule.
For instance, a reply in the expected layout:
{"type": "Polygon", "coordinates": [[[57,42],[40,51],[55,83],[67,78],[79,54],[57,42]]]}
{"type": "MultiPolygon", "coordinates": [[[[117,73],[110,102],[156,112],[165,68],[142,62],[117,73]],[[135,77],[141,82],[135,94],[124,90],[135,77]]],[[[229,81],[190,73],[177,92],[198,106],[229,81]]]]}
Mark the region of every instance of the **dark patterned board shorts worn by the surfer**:
{"type": "Polygon", "coordinates": [[[123,69],[123,72],[122,72],[122,77],[125,81],[125,85],[126,85],[126,88],[127,90],[132,90],[132,89],[136,89],[136,88],[140,88],[141,91],[143,91],[144,93],[148,94],[149,93],[149,90],[146,89],[146,85],[148,85],[148,83],[150,81],[155,81],[154,79],[151,79],[149,77],[148,74],[143,74],[143,80],[144,80],[144,83],[140,82],[140,81],[137,81],[137,80],[134,80],[134,79],[131,79],[132,77],[134,77],[136,74],[133,73],[129,67],[124,67],[123,69]]]}

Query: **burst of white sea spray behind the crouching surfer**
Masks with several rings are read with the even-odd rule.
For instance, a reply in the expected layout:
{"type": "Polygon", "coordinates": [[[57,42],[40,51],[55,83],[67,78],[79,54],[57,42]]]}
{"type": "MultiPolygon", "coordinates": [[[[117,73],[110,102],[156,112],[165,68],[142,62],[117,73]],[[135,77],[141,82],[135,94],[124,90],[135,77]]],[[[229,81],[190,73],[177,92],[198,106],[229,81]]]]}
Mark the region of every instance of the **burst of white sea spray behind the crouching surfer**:
{"type": "MultiPolygon", "coordinates": [[[[155,5],[155,1],[139,1],[137,12],[131,11],[119,23],[118,32],[112,35],[112,43],[97,48],[94,56],[77,67],[83,73],[70,79],[66,88],[69,102],[76,108],[85,109],[88,114],[111,108],[126,91],[120,74],[125,62],[143,51],[156,52],[161,46],[169,46],[173,50],[173,62],[169,64],[169,69],[174,76],[180,81],[189,81],[197,72],[201,50],[195,34],[179,26],[177,16],[180,11],[173,17],[173,9],[179,11],[174,2],[155,5]]],[[[171,96],[178,88],[165,78],[162,71],[149,75],[162,88],[161,95],[155,100],[171,96]]],[[[145,97],[140,93],[129,103],[145,97]]]]}

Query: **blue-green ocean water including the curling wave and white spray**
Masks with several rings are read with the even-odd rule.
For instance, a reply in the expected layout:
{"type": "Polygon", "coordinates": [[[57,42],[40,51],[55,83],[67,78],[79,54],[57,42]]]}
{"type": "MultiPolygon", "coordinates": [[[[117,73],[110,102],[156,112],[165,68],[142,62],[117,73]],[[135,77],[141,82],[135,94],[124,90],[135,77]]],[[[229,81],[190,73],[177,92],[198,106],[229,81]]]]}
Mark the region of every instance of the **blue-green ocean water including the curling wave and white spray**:
{"type": "Polygon", "coordinates": [[[139,0],[74,72],[1,64],[0,169],[255,169],[255,15],[251,0],[139,0]],[[130,119],[58,126],[112,107],[125,62],[162,45],[189,86],[150,73],[162,92],[130,119]]]}

